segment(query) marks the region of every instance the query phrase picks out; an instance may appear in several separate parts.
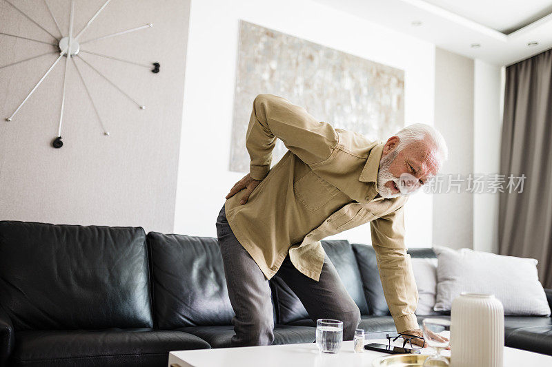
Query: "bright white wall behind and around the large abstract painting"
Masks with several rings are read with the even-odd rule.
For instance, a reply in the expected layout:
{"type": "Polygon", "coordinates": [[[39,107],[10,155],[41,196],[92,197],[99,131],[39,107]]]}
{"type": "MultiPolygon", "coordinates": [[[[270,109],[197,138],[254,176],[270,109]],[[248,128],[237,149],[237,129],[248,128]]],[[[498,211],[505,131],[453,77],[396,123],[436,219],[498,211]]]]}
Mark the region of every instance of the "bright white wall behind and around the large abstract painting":
{"type": "MultiPolygon", "coordinates": [[[[246,174],[228,171],[239,19],[404,70],[406,124],[433,125],[431,43],[309,0],[192,1],[175,233],[215,237],[224,196],[246,174]]],[[[431,200],[409,200],[408,246],[431,246],[431,200]]],[[[369,243],[369,224],[335,238],[369,243]]]]}

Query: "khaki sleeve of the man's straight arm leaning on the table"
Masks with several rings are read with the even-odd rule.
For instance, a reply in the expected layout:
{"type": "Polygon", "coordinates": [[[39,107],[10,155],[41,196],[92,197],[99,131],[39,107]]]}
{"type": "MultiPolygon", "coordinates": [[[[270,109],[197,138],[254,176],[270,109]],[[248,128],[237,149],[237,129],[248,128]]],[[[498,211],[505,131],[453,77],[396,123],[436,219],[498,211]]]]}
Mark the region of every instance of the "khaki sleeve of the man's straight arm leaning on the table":
{"type": "Polygon", "coordinates": [[[373,220],[371,233],[385,300],[397,332],[420,328],[414,313],[418,291],[404,246],[404,206],[373,220]]]}

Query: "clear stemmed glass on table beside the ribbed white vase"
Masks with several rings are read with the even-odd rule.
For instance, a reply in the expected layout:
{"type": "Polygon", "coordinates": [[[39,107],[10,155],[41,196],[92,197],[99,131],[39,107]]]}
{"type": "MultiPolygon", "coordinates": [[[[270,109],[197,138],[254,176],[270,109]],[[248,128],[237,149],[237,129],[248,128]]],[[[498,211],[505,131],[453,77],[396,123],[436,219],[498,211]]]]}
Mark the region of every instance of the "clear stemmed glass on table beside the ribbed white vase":
{"type": "Polygon", "coordinates": [[[424,367],[449,367],[451,364],[441,355],[441,350],[447,348],[451,339],[451,322],[446,319],[424,319],[422,332],[428,346],[435,349],[435,354],[424,361],[424,367]]]}

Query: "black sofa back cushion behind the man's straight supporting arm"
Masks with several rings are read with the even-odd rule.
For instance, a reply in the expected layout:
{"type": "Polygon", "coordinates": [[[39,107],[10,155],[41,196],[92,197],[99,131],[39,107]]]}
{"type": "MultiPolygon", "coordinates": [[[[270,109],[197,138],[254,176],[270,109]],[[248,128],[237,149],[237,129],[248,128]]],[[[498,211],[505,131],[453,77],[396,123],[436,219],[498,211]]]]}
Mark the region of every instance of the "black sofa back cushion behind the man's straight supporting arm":
{"type": "MultiPolygon", "coordinates": [[[[364,295],[368,301],[368,312],[370,315],[391,315],[385,300],[380,271],[377,269],[377,260],[374,248],[368,244],[353,244],[353,251],[357,258],[364,295]]],[[[411,258],[437,258],[433,249],[411,248],[406,251],[411,258]]]]}

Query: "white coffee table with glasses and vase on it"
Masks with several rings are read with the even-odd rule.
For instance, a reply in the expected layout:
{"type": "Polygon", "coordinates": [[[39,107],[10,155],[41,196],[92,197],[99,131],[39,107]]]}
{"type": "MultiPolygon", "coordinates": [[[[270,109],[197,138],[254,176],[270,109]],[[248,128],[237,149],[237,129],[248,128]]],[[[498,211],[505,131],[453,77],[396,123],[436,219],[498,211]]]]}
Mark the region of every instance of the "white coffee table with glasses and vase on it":
{"type": "MultiPolygon", "coordinates": [[[[368,343],[387,344],[387,339],[366,340],[366,344],[368,343]]],[[[422,349],[422,354],[431,353],[431,349],[422,349]]],[[[445,353],[450,355],[449,350],[445,353]]],[[[373,359],[384,355],[388,354],[372,350],[354,353],[352,341],[343,342],[337,354],[321,354],[314,343],[244,346],[170,352],[168,366],[178,364],[180,367],[371,367],[373,359]]],[[[519,366],[549,367],[552,366],[552,356],[505,347],[504,367],[519,366]]]]}

